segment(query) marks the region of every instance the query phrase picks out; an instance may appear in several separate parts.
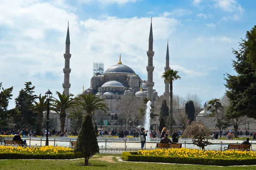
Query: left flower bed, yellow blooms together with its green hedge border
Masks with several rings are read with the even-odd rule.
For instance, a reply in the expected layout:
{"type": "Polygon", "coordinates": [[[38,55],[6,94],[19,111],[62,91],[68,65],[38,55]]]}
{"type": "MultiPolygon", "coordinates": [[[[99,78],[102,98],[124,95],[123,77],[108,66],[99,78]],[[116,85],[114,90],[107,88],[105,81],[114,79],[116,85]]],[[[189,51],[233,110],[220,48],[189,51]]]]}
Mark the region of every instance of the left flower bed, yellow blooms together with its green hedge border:
{"type": "Polygon", "coordinates": [[[0,159],[73,159],[81,158],[68,147],[12,147],[0,146],[0,159]]]}

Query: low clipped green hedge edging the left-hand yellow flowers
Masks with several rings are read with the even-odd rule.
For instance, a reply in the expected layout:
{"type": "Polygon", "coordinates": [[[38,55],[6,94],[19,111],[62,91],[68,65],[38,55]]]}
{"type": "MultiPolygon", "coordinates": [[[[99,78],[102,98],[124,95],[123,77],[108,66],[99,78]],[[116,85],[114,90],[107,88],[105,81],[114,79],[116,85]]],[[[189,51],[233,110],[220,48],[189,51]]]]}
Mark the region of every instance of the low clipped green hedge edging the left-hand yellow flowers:
{"type": "Polygon", "coordinates": [[[75,159],[83,158],[81,153],[58,153],[58,154],[23,154],[1,153],[0,159],[75,159]]]}

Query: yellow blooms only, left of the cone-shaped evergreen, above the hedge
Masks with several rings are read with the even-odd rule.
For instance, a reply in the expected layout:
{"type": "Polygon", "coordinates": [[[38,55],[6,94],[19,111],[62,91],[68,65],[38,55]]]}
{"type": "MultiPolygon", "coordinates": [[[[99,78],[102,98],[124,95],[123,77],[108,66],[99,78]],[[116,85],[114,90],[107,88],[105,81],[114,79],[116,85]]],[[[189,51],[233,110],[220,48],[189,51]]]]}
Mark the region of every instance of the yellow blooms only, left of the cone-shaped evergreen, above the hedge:
{"type": "Polygon", "coordinates": [[[68,147],[12,147],[0,146],[0,154],[2,153],[23,153],[23,154],[58,154],[58,153],[73,153],[73,149],[68,147]]]}

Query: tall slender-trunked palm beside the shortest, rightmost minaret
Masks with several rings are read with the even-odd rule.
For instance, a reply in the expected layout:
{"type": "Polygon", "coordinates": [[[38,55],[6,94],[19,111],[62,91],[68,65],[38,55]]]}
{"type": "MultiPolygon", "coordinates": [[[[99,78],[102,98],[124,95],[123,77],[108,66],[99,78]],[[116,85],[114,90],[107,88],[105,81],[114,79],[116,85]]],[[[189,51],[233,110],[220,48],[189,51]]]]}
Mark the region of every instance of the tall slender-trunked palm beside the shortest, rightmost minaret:
{"type": "Polygon", "coordinates": [[[170,83],[170,114],[169,114],[169,123],[170,123],[170,133],[169,135],[172,135],[172,126],[173,126],[173,115],[172,115],[172,82],[180,79],[180,76],[177,75],[178,71],[173,70],[173,69],[168,69],[166,72],[163,73],[162,78],[164,78],[165,81],[170,83]]]}

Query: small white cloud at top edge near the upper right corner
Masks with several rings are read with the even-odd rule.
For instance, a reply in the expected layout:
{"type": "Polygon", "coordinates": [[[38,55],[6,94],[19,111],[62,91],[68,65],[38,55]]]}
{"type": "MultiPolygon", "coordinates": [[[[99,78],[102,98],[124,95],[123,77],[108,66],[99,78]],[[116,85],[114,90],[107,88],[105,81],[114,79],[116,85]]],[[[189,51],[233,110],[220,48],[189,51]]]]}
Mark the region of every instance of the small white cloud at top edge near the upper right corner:
{"type": "Polygon", "coordinates": [[[215,8],[221,9],[225,12],[240,12],[243,13],[243,9],[236,0],[216,0],[214,4],[215,8]]]}

